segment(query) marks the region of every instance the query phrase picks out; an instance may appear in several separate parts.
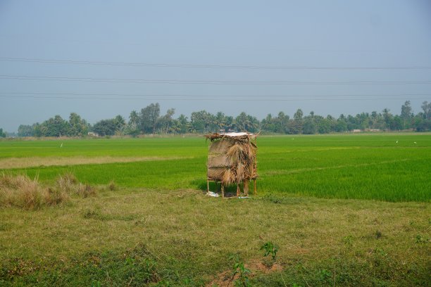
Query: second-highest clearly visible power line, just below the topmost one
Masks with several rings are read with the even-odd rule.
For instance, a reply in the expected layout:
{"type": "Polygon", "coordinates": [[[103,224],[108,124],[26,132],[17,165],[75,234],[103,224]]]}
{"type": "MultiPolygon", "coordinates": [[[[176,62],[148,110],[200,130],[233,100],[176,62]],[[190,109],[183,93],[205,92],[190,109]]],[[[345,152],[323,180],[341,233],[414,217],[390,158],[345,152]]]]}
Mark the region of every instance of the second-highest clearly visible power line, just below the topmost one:
{"type": "Polygon", "coordinates": [[[29,76],[29,75],[0,75],[0,79],[20,79],[37,81],[60,81],[60,82],[114,82],[114,83],[136,83],[136,84],[215,84],[215,85],[346,85],[346,84],[431,84],[431,81],[227,81],[227,80],[185,80],[185,79],[116,79],[116,78],[92,78],[92,77],[51,77],[51,76],[29,76]]]}

